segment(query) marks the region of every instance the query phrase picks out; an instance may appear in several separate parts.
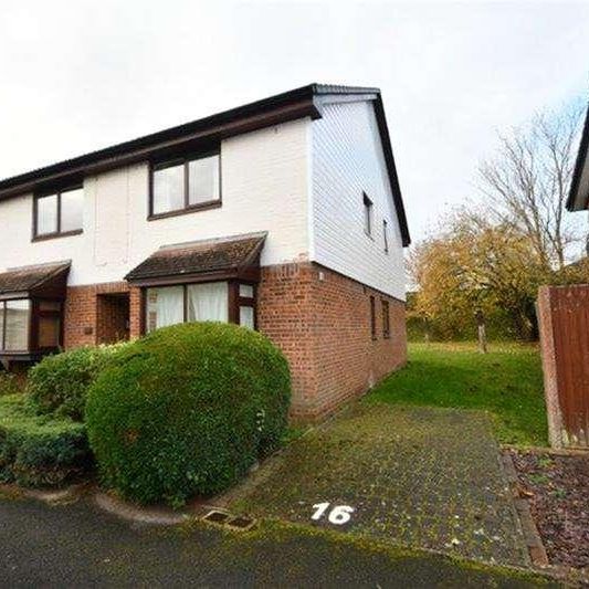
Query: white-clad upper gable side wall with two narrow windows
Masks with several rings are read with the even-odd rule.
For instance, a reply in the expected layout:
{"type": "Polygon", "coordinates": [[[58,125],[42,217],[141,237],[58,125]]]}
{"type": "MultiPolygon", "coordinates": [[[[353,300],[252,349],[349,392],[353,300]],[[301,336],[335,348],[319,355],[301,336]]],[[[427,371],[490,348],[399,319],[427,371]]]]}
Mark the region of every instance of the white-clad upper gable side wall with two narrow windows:
{"type": "Polygon", "coordinates": [[[404,301],[401,232],[372,103],[334,103],[322,112],[313,123],[313,260],[404,301]],[[362,192],[374,203],[371,236],[362,192]]]}

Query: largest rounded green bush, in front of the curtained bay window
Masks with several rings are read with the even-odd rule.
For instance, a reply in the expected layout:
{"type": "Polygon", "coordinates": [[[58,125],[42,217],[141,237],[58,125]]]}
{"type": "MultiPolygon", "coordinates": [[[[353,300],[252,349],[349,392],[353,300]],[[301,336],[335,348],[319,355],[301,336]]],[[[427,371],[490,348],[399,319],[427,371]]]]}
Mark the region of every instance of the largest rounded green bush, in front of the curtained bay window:
{"type": "Polygon", "coordinates": [[[158,329],[91,387],[103,482],[141,503],[221,492],[280,444],[290,396],[288,365],[261,334],[220,323],[158,329]]]}

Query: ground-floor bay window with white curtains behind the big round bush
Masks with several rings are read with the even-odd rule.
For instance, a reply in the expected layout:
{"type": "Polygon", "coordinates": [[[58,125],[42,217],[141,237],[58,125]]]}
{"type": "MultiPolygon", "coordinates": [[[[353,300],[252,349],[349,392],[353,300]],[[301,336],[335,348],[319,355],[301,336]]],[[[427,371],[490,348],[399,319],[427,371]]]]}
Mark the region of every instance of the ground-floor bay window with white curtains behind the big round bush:
{"type": "Polygon", "coordinates": [[[225,281],[146,288],[147,333],[178,323],[230,320],[255,328],[253,285],[225,281]]]}

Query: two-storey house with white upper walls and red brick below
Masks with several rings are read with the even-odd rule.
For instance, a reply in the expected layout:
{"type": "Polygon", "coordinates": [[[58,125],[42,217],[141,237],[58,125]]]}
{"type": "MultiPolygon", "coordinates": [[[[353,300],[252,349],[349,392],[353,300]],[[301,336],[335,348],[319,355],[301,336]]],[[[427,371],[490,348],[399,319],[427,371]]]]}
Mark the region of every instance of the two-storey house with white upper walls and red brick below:
{"type": "Polygon", "coordinates": [[[0,359],[233,322],[320,418],[406,361],[409,242],[379,90],[304,86],[0,181],[0,359]]]}

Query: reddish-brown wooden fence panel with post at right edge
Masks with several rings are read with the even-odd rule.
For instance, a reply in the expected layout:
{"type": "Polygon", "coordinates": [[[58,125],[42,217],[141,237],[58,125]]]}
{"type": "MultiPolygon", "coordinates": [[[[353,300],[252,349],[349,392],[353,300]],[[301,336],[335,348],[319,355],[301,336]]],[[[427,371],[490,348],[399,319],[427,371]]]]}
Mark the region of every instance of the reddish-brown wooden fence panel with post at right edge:
{"type": "Polygon", "coordinates": [[[538,293],[550,444],[589,448],[589,284],[538,293]]]}

